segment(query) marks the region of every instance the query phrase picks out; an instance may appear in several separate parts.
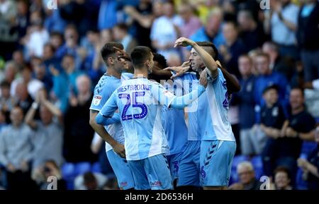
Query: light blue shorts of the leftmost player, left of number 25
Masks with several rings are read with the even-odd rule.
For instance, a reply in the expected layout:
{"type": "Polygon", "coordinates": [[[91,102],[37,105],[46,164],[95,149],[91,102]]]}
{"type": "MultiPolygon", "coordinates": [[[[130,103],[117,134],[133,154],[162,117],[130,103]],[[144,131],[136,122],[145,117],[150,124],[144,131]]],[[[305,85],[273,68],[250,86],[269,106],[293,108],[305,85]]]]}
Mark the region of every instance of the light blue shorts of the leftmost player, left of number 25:
{"type": "Polygon", "coordinates": [[[106,155],[114,174],[116,174],[116,179],[118,179],[118,187],[124,190],[134,188],[135,182],[130,167],[128,167],[128,162],[113,150],[108,150],[106,155]]]}

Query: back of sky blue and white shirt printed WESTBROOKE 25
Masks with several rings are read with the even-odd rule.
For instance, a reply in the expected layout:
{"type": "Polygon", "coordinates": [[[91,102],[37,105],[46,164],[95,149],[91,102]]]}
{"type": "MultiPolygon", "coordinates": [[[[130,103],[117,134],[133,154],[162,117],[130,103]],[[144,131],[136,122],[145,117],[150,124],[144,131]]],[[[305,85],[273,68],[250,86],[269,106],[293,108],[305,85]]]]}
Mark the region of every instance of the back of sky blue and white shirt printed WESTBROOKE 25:
{"type": "Polygon", "coordinates": [[[134,78],[125,80],[114,92],[125,134],[127,160],[142,160],[167,152],[161,109],[169,102],[160,97],[166,94],[164,91],[159,83],[134,78]]]}

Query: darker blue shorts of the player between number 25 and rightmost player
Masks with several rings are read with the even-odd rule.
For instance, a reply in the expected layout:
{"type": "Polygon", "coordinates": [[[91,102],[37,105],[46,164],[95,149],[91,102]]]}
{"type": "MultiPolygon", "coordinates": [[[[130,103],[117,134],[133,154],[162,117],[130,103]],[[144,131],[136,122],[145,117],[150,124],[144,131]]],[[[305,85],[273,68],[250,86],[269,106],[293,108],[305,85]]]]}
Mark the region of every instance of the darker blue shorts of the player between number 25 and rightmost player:
{"type": "Polygon", "coordinates": [[[199,186],[201,141],[187,141],[179,163],[177,186],[199,186]]]}

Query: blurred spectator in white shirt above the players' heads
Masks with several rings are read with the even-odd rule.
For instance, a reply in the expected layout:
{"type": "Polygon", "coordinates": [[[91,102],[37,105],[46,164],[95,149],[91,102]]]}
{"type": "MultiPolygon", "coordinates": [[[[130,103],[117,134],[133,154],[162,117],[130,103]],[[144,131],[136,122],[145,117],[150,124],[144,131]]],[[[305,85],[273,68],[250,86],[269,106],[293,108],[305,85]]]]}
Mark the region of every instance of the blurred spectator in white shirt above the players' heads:
{"type": "Polygon", "coordinates": [[[169,59],[170,54],[177,52],[173,47],[175,40],[179,37],[178,26],[182,25],[182,19],[174,15],[174,4],[172,1],[165,2],[162,8],[164,16],[160,16],[154,20],[150,39],[152,47],[157,49],[157,52],[162,54],[166,59],[169,59]]]}

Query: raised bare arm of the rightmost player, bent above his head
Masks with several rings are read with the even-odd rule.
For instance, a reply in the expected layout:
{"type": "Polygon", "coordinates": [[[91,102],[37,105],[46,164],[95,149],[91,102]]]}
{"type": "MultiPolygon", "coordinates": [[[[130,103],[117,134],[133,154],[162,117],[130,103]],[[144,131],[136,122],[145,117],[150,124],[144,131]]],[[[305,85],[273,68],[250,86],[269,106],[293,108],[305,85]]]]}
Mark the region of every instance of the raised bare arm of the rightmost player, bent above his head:
{"type": "Polygon", "coordinates": [[[175,41],[174,47],[177,46],[189,46],[193,47],[196,52],[198,53],[199,56],[201,56],[201,59],[203,59],[203,63],[205,64],[206,68],[208,68],[208,74],[212,78],[216,78],[218,76],[218,64],[216,61],[213,59],[211,54],[208,54],[208,52],[205,51],[202,47],[200,47],[196,42],[193,40],[189,40],[186,37],[180,37],[175,41]]]}

